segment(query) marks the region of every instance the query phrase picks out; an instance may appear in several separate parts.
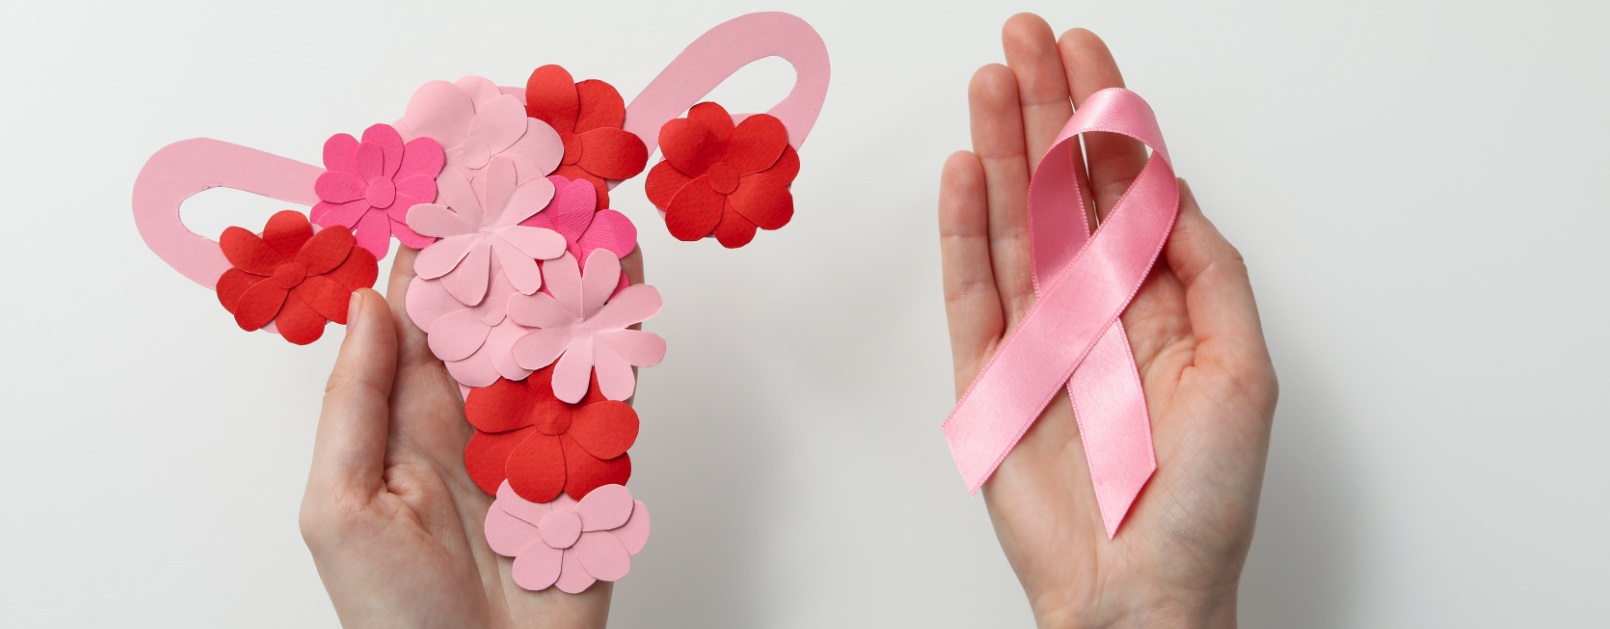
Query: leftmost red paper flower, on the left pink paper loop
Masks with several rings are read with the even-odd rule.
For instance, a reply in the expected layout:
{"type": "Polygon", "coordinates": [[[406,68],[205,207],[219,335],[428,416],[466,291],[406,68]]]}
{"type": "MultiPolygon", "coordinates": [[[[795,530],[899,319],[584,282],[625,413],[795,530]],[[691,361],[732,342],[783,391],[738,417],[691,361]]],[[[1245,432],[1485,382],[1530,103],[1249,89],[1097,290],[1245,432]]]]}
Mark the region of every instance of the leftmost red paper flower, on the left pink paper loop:
{"type": "Polygon", "coordinates": [[[317,341],[324,322],[346,323],[353,291],[374,286],[378,269],[353,233],[343,228],[312,233],[301,212],[269,217],[262,236],[230,227],[217,245],[233,269],[217,280],[217,301],[235,314],[242,330],[270,322],[295,344],[317,341]]]}

